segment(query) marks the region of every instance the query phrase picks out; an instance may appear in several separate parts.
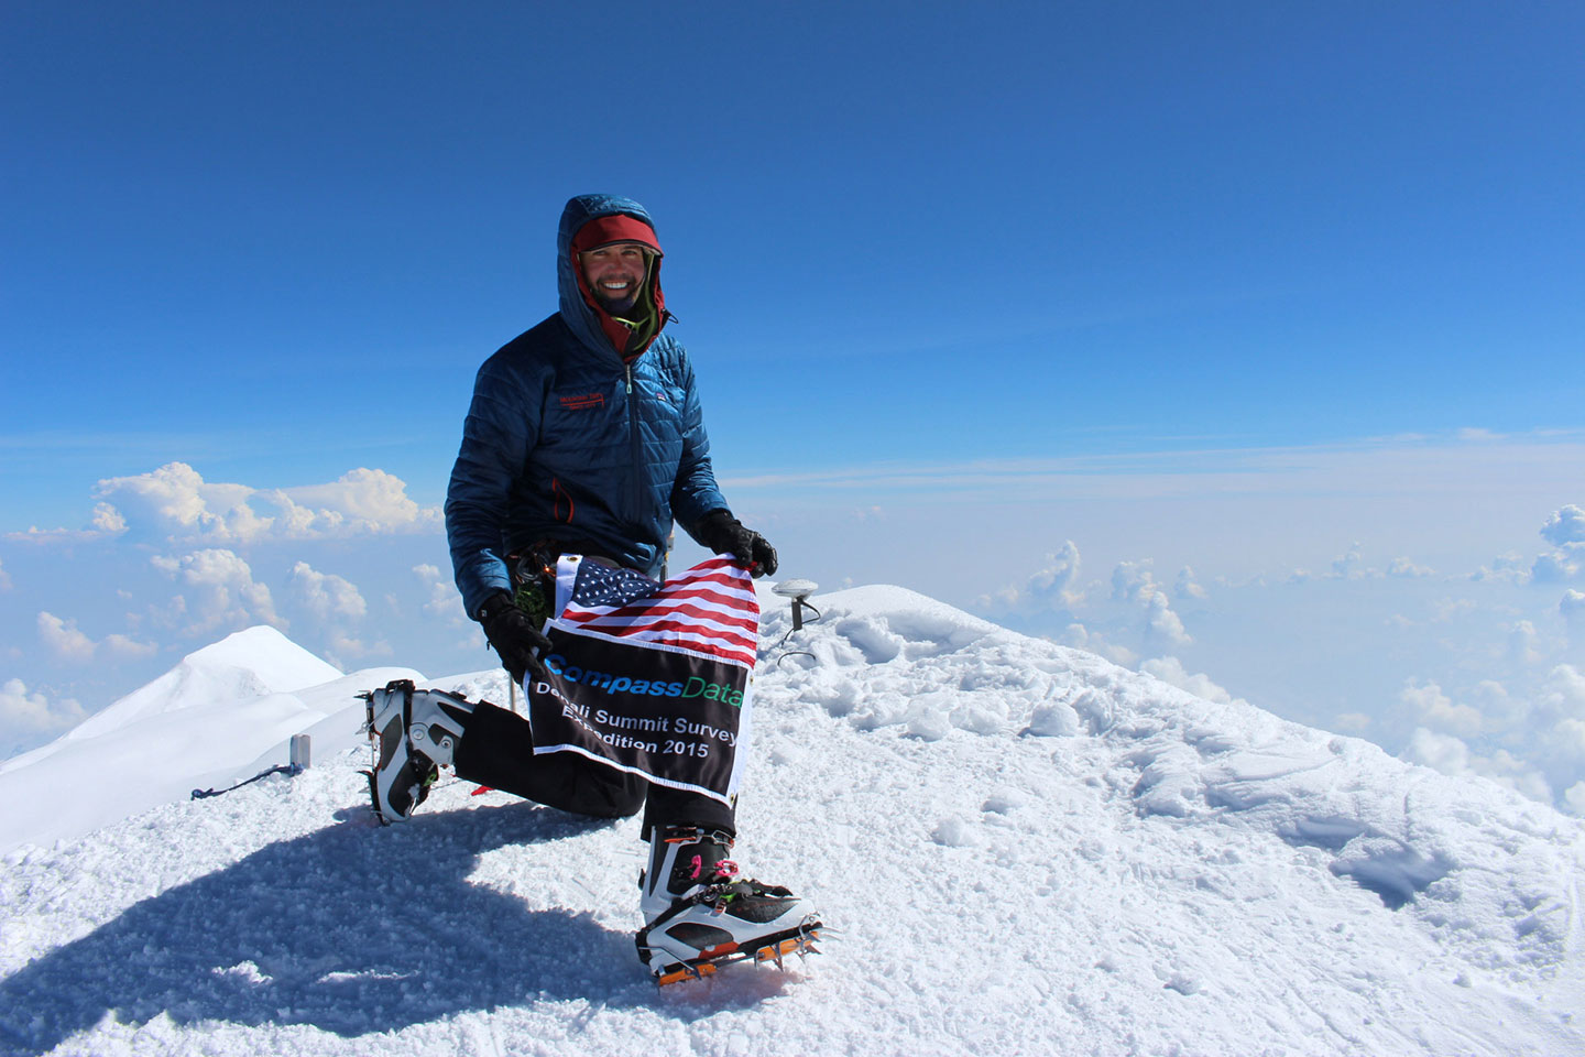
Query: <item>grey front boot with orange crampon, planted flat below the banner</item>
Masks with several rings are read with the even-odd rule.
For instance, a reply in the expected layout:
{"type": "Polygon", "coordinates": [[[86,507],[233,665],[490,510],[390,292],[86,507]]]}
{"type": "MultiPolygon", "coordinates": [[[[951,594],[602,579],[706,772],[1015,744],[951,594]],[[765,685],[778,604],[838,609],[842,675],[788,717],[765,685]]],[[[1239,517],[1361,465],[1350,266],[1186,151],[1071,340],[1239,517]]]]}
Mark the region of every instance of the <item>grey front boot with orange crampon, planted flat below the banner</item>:
{"type": "Polygon", "coordinates": [[[661,984],[708,976],[740,959],[781,964],[813,954],[819,918],[778,884],[739,875],[732,838],[696,826],[650,830],[650,862],[639,878],[645,925],[639,960],[661,984]]]}

